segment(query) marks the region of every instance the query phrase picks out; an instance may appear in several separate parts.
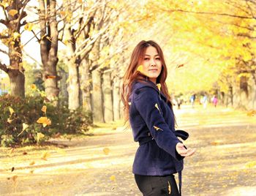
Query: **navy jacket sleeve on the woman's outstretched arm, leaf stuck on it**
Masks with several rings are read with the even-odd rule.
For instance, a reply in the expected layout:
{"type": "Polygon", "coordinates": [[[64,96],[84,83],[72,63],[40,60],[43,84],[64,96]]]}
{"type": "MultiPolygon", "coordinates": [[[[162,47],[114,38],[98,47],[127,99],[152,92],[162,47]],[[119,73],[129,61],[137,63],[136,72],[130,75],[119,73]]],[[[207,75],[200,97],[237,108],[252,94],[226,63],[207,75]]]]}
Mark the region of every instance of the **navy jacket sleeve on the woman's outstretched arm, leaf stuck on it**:
{"type": "Polygon", "coordinates": [[[162,110],[159,108],[159,94],[157,94],[157,91],[150,87],[140,88],[139,92],[135,92],[133,102],[140,116],[146,122],[152,137],[156,140],[157,146],[167,151],[175,159],[183,159],[184,157],[181,157],[176,151],[176,144],[182,142],[178,140],[174,132],[165,123],[162,110]],[[158,107],[156,107],[156,104],[158,107]]]}

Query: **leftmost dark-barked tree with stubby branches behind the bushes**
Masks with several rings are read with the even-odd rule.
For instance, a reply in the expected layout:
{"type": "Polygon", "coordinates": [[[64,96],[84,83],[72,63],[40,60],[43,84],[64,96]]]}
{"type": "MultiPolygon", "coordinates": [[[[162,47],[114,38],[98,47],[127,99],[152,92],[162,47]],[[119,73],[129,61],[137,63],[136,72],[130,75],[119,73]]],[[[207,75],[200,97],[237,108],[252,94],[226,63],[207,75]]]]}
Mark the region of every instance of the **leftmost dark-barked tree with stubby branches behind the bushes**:
{"type": "MultiPolygon", "coordinates": [[[[1,26],[4,26],[0,32],[1,42],[5,45],[0,49],[1,53],[9,57],[10,65],[1,63],[0,69],[4,70],[10,78],[11,94],[18,97],[25,96],[25,76],[23,69],[22,44],[20,42],[20,28],[26,25],[25,8],[29,0],[23,1],[1,1],[0,7],[3,19],[0,19],[1,26]]],[[[28,26],[26,26],[28,27],[28,26]]]]}

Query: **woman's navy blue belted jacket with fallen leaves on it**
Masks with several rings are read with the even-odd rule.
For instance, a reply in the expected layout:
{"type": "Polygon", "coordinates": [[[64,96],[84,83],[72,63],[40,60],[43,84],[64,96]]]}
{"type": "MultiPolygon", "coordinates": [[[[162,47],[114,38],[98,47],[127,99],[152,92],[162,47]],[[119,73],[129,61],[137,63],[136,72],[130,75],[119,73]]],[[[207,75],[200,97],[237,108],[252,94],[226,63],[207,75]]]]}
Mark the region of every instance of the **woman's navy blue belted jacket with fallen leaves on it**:
{"type": "Polygon", "coordinates": [[[182,143],[175,135],[175,120],[166,97],[151,81],[136,81],[129,97],[129,122],[135,142],[147,137],[139,146],[132,173],[145,176],[165,176],[183,169],[183,158],[176,151],[182,143]]]}

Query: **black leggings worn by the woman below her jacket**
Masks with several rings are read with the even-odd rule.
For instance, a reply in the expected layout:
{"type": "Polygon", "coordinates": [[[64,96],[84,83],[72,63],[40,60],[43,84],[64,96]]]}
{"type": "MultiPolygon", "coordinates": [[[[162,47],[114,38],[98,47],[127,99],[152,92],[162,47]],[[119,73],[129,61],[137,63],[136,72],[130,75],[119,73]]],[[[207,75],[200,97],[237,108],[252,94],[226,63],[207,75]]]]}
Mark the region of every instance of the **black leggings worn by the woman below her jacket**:
{"type": "Polygon", "coordinates": [[[135,174],[135,181],[143,196],[178,196],[178,187],[173,175],[142,176],[135,174]]]}

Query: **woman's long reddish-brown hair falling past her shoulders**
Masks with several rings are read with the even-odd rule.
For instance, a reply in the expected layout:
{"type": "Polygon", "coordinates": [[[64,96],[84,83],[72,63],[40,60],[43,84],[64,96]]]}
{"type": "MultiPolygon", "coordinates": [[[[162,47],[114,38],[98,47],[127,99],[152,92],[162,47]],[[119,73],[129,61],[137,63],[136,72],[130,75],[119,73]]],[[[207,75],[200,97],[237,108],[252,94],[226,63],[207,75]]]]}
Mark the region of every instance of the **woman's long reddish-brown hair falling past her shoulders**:
{"type": "MultiPolygon", "coordinates": [[[[122,99],[122,102],[124,103],[124,120],[126,122],[129,121],[129,96],[132,91],[132,83],[134,83],[135,80],[141,80],[143,78],[143,75],[141,75],[140,72],[137,71],[137,69],[140,63],[143,61],[144,55],[146,53],[146,48],[148,48],[149,46],[153,46],[154,48],[156,48],[159,54],[160,60],[162,62],[162,70],[160,75],[157,77],[157,83],[161,84],[161,91],[163,94],[165,94],[165,97],[167,98],[167,102],[170,102],[170,95],[168,93],[167,86],[165,83],[165,80],[167,78],[167,67],[165,64],[165,59],[162,53],[162,49],[157,44],[157,42],[154,42],[152,40],[140,41],[138,45],[136,45],[135,49],[132,51],[129,67],[125,72],[124,79],[123,79],[121,99],[122,99]]],[[[170,105],[171,105],[171,102],[170,102],[170,105]]]]}

